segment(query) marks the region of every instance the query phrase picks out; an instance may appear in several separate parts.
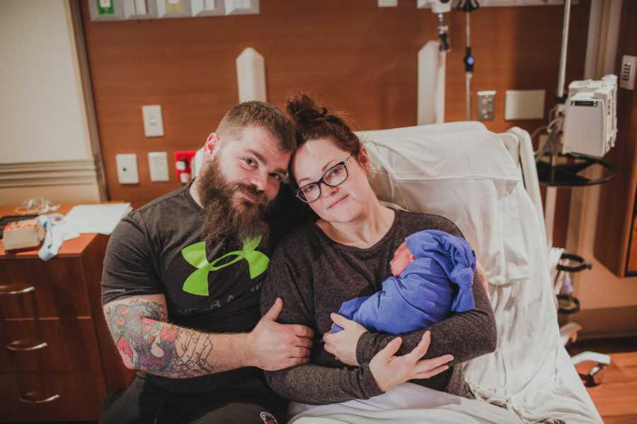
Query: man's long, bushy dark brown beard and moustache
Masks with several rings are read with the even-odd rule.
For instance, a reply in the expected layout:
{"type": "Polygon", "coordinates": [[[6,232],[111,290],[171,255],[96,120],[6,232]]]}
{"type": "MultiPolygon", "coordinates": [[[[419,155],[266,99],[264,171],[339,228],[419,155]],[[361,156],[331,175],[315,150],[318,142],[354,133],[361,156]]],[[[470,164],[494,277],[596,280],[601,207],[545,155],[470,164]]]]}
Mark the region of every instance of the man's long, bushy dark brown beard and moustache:
{"type": "Polygon", "coordinates": [[[260,245],[265,245],[269,235],[265,222],[268,198],[263,192],[248,184],[228,182],[222,175],[218,157],[202,170],[195,184],[204,209],[202,235],[208,249],[214,249],[219,242],[241,243],[253,237],[261,237],[260,245]],[[256,203],[241,199],[235,204],[237,192],[253,196],[256,203]]]}

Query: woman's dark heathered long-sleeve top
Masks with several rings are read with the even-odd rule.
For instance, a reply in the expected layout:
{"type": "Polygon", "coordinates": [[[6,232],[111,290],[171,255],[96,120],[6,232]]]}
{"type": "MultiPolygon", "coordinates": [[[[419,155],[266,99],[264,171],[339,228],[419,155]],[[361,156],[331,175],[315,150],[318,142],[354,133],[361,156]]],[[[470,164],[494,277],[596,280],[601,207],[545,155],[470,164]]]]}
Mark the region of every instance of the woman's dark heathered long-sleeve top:
{"type": "MultiPolygon", "coordinates": [[[[389,262],[405,237],[420,230],[442,230],[462,237],[454,223],[442,216],[396,211],[393,225],[384,237],[367,249],[340,245],[314,223],[287,235],[280,242],[261,290],[261,310],[277,297],[283,300],[278,322],[304,324],[314,329],[311,363],[276,372],[265,372],[268,383],[281,396],[306,404],[331,404],[367,399],[381,394],[369,360],[395,336],[367,332],[357,345],[360,367],[348,367],[328,353],[322,341],[331,328],[331,312],[338,312],[345,300],[372,295],[391,275],[389,262]]],[[[431,345],[425,358],[450,353],[454,363],[495,350],[493,310],[481,283],[474,276],[476,308],[453,314],[428,328],[431,345]]],[[[403,334],[398,355],[411,351],[425,329],[403,334]]],[[[413,380],[432,389],[470,396],[459,367],[430,379],[413,380]]]]}

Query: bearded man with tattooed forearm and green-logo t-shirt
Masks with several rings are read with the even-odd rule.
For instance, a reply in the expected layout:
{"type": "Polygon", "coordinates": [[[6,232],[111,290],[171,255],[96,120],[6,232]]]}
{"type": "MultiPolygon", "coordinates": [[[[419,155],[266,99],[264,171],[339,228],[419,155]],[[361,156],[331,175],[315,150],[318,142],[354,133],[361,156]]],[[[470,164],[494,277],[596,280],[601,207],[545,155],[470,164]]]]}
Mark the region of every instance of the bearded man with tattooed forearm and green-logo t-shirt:
{"type": "Polygon", "coordinates": [[[283,420],[285,401],[261,370],[307,363],[313,334],[277,324],[280,299],[261,317],[259,292],[273,247],[268,207],[295,145],[281,110],[241,103],[206,141],[199,177],[117,226],[102,304],[125,366],[138,372],[105,401],[99,423],[283,420]]]}

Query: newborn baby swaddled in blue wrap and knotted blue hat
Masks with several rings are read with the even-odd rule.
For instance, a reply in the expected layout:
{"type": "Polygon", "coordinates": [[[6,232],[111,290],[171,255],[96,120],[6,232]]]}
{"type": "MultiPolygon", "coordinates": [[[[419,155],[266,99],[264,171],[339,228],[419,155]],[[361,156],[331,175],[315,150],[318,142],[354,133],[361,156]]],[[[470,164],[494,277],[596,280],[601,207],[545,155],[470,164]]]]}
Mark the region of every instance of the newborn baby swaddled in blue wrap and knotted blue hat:
{"type": "MultiPolygon", "coordinates": [[[[403,334],[424,329],[452,312],[474,309],[476,254],[464,238],[439,230],[416,232],[396,249],[393,277],[382,290],[343,302],[338,314],[370,331],[403,334]]],[[[333,324],[332,332],[341,331],[333,324]]]]}

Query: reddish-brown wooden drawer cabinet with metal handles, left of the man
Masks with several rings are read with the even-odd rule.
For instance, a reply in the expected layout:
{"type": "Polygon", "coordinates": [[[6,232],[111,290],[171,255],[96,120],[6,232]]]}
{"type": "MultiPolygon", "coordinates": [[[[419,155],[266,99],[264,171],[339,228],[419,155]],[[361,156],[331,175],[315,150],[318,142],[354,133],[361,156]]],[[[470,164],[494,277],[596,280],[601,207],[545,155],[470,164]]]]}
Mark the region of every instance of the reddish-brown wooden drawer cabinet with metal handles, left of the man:
{"type": "Polygon", "coordinates": [[[0,423],[96,420],[130,382],[102,314],[107,242],[84,234],[50,261],[0,244],[0,423]]]}

